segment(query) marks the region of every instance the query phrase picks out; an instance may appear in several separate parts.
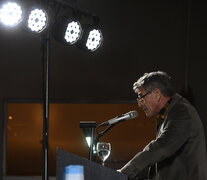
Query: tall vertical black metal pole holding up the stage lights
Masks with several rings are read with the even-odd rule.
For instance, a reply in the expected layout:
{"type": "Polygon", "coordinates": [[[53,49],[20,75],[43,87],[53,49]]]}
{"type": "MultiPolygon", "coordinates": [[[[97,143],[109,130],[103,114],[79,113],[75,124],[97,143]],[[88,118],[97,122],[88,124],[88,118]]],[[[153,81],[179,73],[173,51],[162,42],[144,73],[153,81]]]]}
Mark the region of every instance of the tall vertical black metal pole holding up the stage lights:
{"type": "Polygon", "coordinates": [[[42,37],[43,46],[43,172],[42,180],[49,180],[48,140],[49,140],[49,61],[50,32],[42,37]]]}

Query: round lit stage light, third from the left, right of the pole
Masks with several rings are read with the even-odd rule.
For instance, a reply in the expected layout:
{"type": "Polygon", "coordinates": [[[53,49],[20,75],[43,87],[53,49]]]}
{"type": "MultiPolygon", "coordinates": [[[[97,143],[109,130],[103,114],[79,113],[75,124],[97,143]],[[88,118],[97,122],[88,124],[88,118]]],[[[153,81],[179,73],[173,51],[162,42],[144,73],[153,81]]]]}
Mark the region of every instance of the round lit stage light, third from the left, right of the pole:
{"type": "Polygon", "coordinates": [[[80,23],[78,21],[72,21],[68,23],[64,38],[68,43],[74,44],[80,39],[81,33],[82,28],[80,23]]]}

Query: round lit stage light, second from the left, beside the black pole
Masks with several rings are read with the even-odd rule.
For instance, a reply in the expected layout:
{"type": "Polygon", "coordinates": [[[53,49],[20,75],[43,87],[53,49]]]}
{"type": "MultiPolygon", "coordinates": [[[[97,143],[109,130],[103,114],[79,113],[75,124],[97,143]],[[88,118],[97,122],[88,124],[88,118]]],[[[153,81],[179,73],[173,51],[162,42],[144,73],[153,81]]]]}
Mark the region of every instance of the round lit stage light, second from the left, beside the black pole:
{"type": "Polygon", "coordinates": [[[28,19],[28,27],[31,31],[40,33],[47,26],[47,14],[42,9],[34,9],[31,11],[28,19]]]}

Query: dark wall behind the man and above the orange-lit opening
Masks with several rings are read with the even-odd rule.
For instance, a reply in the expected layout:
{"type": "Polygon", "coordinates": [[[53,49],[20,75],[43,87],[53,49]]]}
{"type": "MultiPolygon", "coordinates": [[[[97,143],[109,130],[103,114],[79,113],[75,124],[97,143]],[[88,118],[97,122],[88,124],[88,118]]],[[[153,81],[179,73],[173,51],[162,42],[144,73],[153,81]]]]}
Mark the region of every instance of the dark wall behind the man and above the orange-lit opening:
{"type": "MultiPolygon", "coordinates": [[[[204,126],[206,111],[207,11],[199,0],[79,0],[100,17],[104,44],[94,53],[51,39],[50,99],[134,101],[132,84],[144,72],[162,70],[177,92],[193,100],[204,126]]],[[[42,98],[38,36],[0,26],[0,154],[4,102],[42,98]]],[[[2,164],[0,162],[0,164],[2,164]]]]}

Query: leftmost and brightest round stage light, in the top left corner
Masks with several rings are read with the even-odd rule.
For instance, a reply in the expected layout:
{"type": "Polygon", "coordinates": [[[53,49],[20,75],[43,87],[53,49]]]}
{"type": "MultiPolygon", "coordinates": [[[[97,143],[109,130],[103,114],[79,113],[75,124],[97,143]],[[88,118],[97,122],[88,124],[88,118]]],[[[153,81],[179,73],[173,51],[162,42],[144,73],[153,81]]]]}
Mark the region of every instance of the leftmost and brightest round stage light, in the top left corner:
{"type": "Polygon", "coordinates": [[[22,8],[13,2],[3,4],[0,8],[0,21],[7,26],[16,26],[22,20],[22,8]]]}

